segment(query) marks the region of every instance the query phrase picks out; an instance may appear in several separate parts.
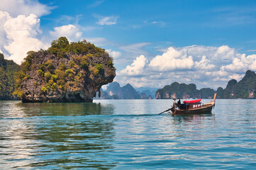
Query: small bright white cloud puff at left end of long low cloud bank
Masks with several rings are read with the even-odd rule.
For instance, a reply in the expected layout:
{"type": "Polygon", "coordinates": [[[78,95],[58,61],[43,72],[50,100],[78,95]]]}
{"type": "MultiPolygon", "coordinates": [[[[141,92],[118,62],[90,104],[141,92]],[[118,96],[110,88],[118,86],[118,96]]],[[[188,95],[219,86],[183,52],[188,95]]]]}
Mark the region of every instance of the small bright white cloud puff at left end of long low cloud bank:
{"type": "Polygon", "coordinates": [[[147,64],[147,62],[147,58],[144,55],[140,55],[140,57],[136,57],[136,59],[133,60],[133,64],[128,65],[126,69],[122,69],[120,74],[138,76],[143,73],[145,64],[147,64]]]}

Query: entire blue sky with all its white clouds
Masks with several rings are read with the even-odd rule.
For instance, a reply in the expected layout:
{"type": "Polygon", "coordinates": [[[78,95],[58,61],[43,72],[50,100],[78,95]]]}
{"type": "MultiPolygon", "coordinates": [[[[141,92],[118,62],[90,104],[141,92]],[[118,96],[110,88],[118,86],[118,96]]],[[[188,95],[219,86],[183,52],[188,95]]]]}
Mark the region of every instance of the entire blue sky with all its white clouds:
{"type": "Polygon", "coordinates": [[[21,64],[52,40],[87,40],[113,57],[121,86],[174,81],[225,88],[256,71],[256,1],[1,0],[0,52],[21,64]]]}

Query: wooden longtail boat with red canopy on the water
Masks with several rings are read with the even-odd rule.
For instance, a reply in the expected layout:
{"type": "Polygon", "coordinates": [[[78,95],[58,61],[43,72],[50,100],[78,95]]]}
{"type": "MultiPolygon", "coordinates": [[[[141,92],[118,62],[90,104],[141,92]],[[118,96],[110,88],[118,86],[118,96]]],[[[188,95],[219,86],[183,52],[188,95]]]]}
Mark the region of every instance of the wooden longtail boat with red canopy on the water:
{"type": "MultiPolygon", "coordinates": [[[[183,101],[183,103],[181,103],[179,99],[179,101],[176,103],[177,98],[175,98],[172,108],[167,109],[167,111],[171,111],[172,115],[211,113],[212,109],[215,106],[216,95],[217,94],[214,94],[212,101],[203,105],[201,105],[201,99],[183,101]]],[[[163,111],[162,113],[165,112],[166,111],[163,111]]]]}

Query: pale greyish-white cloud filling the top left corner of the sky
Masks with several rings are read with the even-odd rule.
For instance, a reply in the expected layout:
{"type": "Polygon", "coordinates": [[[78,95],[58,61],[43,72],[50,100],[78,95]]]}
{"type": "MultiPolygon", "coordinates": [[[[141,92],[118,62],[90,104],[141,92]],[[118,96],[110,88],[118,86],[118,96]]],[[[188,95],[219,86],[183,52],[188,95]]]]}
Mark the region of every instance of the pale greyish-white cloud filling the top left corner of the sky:
{"type": "Polygon", "coordinates": [[[12,17],[18,15],[30,15],[34,13],[40,17],[50,13],[50,10],[54,7],[40,4],[38,0],[1,0],[0,11],[6,11],[10,13],[12,17]]]}

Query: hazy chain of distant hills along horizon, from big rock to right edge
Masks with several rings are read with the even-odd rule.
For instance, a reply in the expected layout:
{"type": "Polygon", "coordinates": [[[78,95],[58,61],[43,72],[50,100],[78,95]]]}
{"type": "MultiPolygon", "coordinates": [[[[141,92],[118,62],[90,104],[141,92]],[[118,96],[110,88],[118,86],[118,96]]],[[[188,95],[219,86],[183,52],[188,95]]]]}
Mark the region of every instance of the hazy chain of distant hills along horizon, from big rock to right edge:
{"type": "MultiPolygon", "coordinates": [[[[219,87],[196,89],[196,84],[174,82],[162,89],[140,88],[136,90],[130,84],[120,86],[118,82],[108,84],[106,90],[101,89],[101,99],[170,99],[170,98],[256,98],[256,74],[248,70],[245,77],[237,82],[235,79],[228,81],[226,89],[219,87]]],[[[97,96],[96,98],[99,98],[97,96]]]]}

